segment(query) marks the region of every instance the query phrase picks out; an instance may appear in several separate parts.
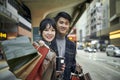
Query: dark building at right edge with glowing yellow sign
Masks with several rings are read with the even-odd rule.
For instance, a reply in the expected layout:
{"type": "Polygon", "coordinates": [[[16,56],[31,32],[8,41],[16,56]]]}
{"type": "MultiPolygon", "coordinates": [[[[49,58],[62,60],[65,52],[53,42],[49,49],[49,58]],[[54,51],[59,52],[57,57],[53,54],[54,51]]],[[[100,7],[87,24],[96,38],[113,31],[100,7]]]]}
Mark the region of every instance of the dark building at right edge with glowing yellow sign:
{"type": "Polygon", "coordinates": [[[109,0],[110,4],[110,27],[109,38],[110,43],[120,46],[120,0],[109,0]]]}

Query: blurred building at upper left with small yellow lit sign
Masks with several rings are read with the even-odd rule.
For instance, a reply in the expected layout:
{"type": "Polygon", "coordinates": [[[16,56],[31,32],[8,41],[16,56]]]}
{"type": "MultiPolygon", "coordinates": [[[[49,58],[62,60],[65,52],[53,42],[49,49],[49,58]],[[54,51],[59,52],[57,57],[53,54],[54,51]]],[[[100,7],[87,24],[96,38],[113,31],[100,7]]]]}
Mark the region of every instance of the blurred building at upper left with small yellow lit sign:
{"type": "Polygon", "coordinates": [[[17,0],[0,0],[0,41],[22,35],[32,40],[30,16],[29,9],[17,0]]]}

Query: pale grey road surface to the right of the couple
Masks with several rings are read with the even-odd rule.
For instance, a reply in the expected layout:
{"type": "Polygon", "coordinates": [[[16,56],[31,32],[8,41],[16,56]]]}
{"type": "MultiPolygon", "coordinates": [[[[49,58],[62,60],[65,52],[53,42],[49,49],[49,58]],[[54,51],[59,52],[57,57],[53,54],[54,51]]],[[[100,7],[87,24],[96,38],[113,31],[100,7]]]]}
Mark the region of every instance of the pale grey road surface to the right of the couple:
{"type": "Polygon", "coordinates": [[[77,50],[76,60],[92,80],[120,80],[120,57],[106,56],[105,52],[88,53],[77,50]]]}

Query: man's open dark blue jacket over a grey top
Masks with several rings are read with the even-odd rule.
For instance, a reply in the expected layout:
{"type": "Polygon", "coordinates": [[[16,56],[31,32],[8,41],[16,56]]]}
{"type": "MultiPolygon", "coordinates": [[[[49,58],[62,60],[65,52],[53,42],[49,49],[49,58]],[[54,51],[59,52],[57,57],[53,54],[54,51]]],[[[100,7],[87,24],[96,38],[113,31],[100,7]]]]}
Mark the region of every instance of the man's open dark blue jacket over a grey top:
{"type": "MultiPolygon", "coordinates": [[[[51,42],[50,47],[56,52],[56,55],[59,56],[57,43],[55,39],[51,42]]],[[[75,71],[75,64],[76,64],[75,56],[76,56],[76,44],[70,41],[66,37],[66,49],[65,49],[66,67],[64,71],[64,80],[70,80],[71,72],[75,71]]]]}

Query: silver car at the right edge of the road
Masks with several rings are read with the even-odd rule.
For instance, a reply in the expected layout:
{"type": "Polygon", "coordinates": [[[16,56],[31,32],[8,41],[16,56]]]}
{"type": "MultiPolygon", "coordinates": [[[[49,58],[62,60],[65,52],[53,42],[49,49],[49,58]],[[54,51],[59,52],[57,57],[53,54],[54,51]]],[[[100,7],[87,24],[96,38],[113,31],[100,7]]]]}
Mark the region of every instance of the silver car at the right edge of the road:
{"type": "Polygon", "coordinates": [[[108,45],[106,47],[107,56],[120,56],[120,47],[115,45],[108,45]]]}

